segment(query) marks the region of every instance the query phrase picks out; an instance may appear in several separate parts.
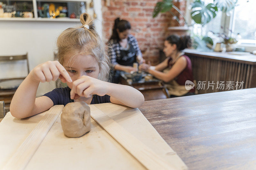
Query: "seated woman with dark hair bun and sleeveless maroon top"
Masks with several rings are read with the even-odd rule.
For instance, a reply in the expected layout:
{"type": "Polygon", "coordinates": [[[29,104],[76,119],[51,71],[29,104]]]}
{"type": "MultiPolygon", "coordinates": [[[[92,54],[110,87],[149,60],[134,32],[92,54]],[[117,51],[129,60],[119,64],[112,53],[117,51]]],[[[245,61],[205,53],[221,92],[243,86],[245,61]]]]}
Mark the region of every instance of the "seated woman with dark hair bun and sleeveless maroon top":
{"type": "Polygon", "coordinates": [[[185,86],[194,81],[191,60],[182,52],[190,45],[190,36],[170,35],[164,41],[163,51],[167,58],[156,66],[141,64],[139,68],[164,81],[171,97],[194,95],[195,89],[185,86]]]}

